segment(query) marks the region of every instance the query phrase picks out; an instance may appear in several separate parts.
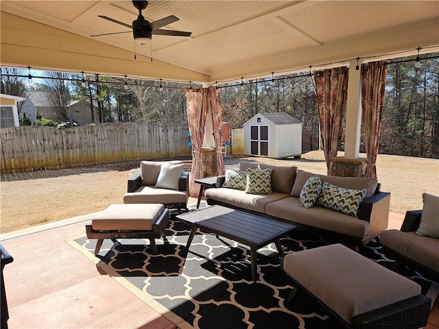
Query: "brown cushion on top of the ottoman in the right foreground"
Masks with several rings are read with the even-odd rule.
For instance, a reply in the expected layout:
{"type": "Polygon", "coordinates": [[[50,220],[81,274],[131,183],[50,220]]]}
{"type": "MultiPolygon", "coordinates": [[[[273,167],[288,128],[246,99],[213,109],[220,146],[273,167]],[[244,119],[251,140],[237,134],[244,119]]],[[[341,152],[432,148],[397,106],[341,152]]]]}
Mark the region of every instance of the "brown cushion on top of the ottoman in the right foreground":
{"type": "Polygon", "coordinates": [[[420,295],[412,280],[340,244],[288,254],[284,269],[348,324],[355,315],[420,295]]]}

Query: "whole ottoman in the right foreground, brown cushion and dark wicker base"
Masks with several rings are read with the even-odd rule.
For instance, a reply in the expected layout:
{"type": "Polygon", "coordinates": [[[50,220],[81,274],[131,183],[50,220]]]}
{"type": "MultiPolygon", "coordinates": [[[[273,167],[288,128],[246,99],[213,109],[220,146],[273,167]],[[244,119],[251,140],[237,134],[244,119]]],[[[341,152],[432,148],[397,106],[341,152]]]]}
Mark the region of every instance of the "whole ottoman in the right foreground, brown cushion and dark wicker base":
{"type": "MultiPolygon", "coordinates": [[[[431,300],[420,286],[341,244],[288,254],[283,270],[343,328],[411,328],[427,324],[431,300]]],[[[294,297],[292,291],[289,300],[294,297]]]]}

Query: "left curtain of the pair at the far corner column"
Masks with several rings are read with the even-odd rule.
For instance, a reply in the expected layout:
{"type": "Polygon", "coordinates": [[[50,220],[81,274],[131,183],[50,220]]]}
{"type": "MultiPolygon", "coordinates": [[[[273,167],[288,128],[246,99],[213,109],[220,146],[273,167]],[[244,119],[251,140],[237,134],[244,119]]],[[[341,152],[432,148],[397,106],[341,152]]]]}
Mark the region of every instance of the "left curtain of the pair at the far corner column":
{"type": "Polygon", "coordinates": [[[206,127],[207,106],[204,96],[207,93],[205,88],[186,88],[187,100],[187,123],[193,147],[192,169],[189,175],[189,195],[198,195],[198,188],[193,182],[197,178],[202,178],[202,159],[201,149],[203,146],[204,129],[206,127]]]}

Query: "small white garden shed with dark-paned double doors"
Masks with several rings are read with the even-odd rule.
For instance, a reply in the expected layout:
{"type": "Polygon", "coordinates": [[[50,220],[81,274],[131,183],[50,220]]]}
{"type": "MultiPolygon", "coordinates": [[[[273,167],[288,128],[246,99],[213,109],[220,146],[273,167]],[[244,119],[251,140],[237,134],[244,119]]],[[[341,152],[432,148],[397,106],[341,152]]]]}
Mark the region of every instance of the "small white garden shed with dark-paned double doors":
{"type": "Polygon", "coordinates": [[[291,115],[259,113],[244,123],[244,154],[287,158],[302,154],[302,122],[291,115]]]}

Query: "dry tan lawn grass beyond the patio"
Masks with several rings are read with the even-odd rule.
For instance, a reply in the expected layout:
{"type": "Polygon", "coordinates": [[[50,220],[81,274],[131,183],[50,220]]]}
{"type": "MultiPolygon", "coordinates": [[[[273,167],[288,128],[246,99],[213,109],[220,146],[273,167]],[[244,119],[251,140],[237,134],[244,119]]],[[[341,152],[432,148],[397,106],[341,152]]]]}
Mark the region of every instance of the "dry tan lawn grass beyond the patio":
{"type": "MultiPolygon", "coordinates": [[[[300,160],[250,159],[288,163],[299,169],[326,173],[322,151],[304,154],[300,160]]],[[[237,164],[239,160],[241,159],[227,158],[226,164],[237,164]]],[[[379,155],[377,171],[382,185],[381,191],[392,193],[391,212],[405,213],[406,210],[421,209],[423,192],[439,195],[437,159],[379,155]]],[[[1,182],[0,232],[86,215],[110,204],[120,204],[130,174],[132,171],[102,171],[1,182]]]]}

